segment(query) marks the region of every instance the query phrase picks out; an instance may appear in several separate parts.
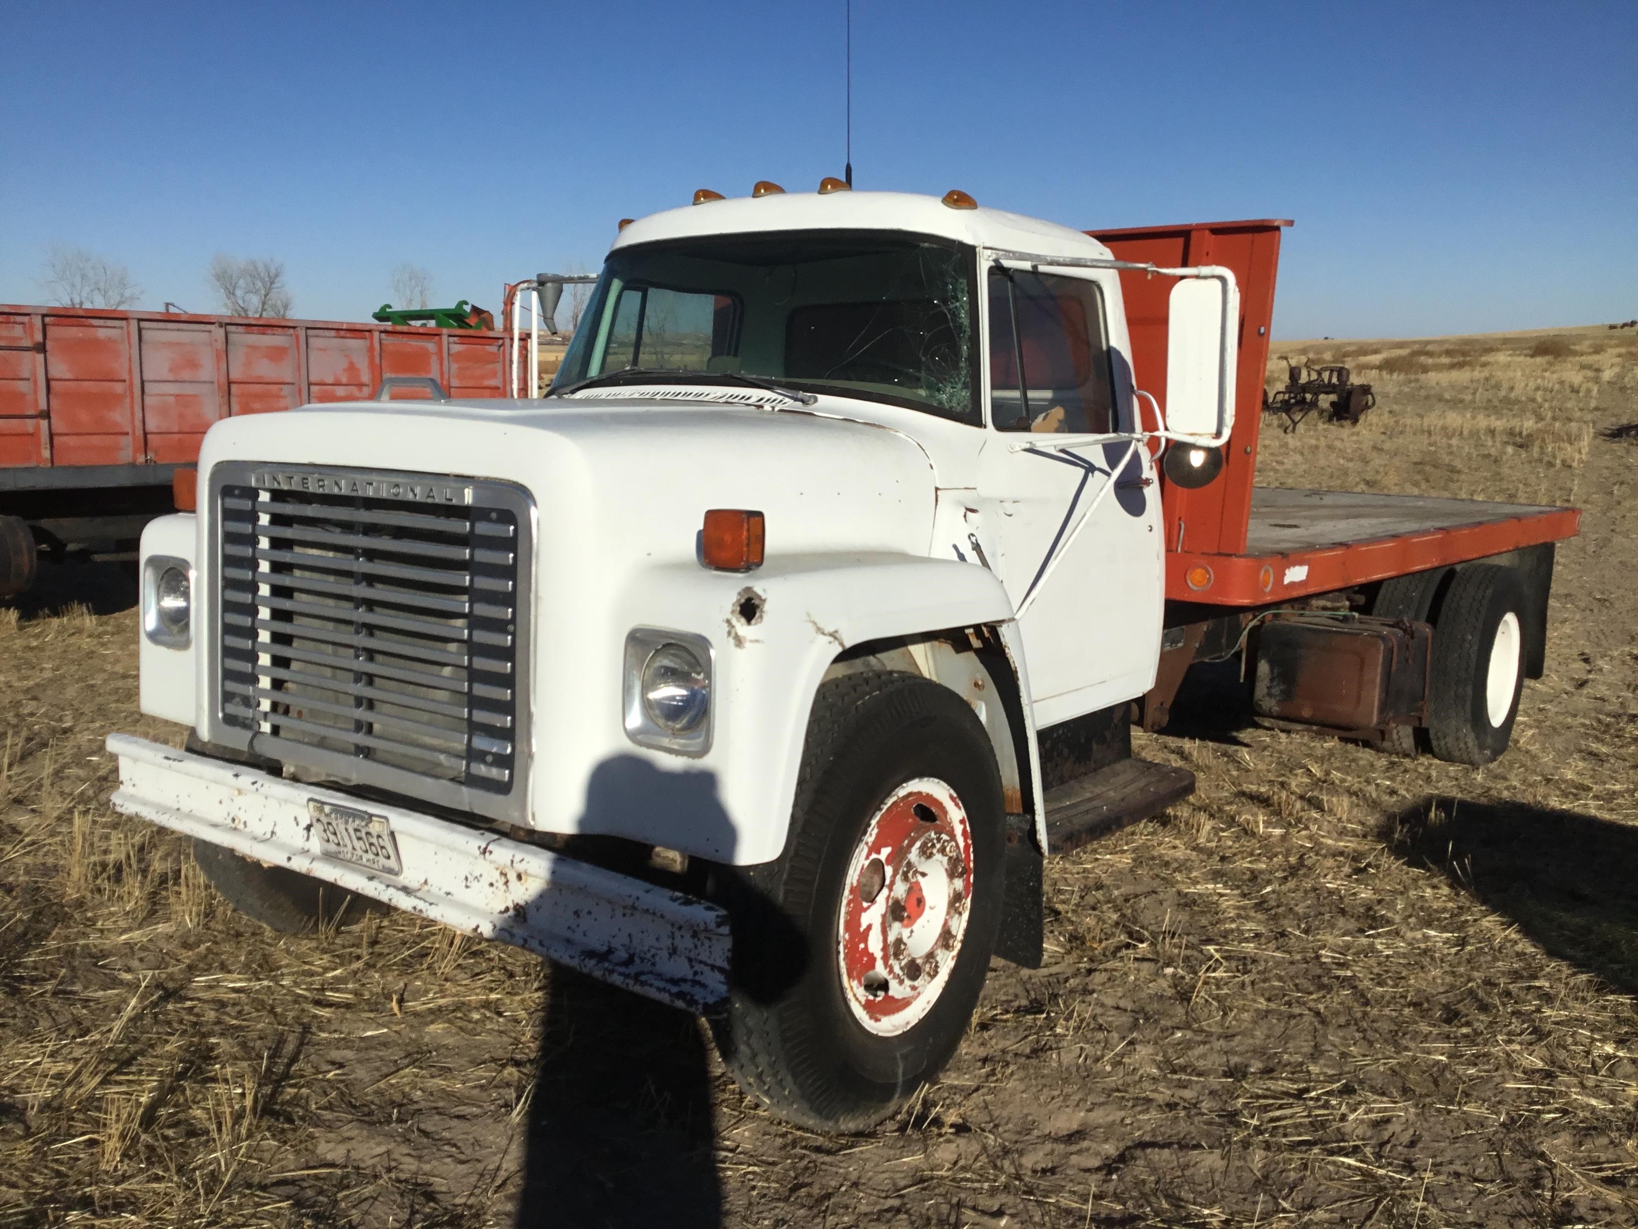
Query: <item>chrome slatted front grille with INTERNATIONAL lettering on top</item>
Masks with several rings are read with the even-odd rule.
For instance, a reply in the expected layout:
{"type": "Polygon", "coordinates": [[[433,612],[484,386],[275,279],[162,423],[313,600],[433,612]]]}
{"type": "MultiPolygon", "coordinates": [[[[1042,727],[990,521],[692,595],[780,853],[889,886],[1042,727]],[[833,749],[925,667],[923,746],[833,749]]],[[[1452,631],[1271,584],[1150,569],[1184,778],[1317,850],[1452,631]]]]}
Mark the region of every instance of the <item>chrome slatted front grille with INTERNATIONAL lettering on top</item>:
{"type": "Polygon", "coordinates": [[[501,813],[526,716],[527,497],[251,465],[218,467],[211,490],[226,731],[285,764],[501,813]]]}

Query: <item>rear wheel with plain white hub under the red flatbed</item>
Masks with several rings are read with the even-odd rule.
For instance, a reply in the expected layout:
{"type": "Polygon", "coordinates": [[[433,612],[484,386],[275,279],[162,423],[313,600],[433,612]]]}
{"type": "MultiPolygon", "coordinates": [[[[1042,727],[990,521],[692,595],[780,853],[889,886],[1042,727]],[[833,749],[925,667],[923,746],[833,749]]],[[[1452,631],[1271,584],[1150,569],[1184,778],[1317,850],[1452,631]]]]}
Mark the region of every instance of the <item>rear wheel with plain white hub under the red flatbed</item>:
{"type": "Polygon", "coordinates": [[[1497,564],[1458,569],[1440,603],[1428,741],[1451,764],[1489,764],[1514,736],[1523,687],[1525,590],[1497,564]]]}

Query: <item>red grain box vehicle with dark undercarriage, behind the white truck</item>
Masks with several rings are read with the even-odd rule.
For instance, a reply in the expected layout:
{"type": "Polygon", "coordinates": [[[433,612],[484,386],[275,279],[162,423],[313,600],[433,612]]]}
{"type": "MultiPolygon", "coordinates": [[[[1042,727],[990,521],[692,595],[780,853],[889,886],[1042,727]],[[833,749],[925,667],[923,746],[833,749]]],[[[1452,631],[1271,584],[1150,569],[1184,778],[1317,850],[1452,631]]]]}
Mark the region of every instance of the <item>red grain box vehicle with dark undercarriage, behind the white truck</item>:
{"type": "Polygon", "coordinates": [[[0,598],[41,552],[133,552],[211,423],[383,380],[506,397],[508,354],[488,329],[0,303],[0,598]]]}

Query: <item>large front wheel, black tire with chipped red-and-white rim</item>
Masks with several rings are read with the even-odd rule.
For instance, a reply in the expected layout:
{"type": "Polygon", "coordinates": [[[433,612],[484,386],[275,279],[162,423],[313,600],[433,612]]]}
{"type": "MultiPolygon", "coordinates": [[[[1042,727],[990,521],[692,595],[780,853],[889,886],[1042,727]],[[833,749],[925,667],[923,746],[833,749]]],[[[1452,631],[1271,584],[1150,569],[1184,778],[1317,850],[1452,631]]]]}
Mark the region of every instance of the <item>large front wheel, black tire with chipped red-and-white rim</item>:
{"type": "Polygon", "coordinates": [[[989,968],[1004,832],[994,752],[960,696],[909,673],[826,682],[785,852],[722,893],[734,988],[713,1029],[740,1088],[857,1131],[934,1078],[989,968]]]}

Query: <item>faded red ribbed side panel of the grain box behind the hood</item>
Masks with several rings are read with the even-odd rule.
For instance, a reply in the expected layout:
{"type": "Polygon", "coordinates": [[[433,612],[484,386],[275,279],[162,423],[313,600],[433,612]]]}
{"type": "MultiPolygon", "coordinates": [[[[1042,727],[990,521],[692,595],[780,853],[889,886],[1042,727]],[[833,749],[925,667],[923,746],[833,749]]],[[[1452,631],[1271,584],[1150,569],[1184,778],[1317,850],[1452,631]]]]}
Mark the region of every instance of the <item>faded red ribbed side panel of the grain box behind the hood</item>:
{"type": "Polygon", "coordinates": [[[385,375],[506,397],[508,352],[493,331],[0,305],[0,467],[192,464],[211,423],[385,375]]]}

